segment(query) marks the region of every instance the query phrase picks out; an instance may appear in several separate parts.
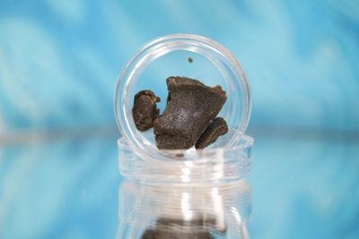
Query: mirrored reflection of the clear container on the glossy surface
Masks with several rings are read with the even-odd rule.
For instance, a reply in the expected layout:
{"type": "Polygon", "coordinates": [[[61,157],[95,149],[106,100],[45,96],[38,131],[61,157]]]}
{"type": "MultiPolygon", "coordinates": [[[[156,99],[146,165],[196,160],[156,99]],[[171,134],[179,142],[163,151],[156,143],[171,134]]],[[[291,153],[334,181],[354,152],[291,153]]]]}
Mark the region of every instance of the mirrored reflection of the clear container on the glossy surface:
{"type": "Polygon", "coordinates": [[[251,190],[230,184],[121,184],[117,238],[250,238],[251,190]]]}

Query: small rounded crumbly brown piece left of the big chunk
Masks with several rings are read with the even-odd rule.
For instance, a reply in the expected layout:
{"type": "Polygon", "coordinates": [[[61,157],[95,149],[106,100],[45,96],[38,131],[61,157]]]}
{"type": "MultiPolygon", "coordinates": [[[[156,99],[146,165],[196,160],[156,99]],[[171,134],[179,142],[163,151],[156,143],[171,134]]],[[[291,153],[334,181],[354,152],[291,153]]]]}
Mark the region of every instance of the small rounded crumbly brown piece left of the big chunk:
{"type": "Polygon", "coordinates": [[[159,115],[156,102],[160,98],[156,97],[151,90],[141,90],[134,98],[132,115],[139,131],[146,131],[153,127],[153,120],[159,115]]]}

